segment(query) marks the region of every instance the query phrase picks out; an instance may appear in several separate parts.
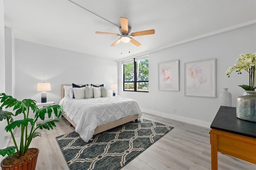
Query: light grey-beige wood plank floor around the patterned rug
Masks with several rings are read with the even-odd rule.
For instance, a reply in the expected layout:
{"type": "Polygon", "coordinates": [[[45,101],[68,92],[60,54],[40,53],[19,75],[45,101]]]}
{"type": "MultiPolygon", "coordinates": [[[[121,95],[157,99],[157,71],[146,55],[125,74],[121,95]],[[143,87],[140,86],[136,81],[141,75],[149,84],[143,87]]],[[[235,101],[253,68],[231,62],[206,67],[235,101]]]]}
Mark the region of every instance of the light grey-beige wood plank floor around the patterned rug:
{"type": "MultiPolygon", "coordinates": [[[[122,170],[208,170],[211,169],[209,128],[143,113],[142,118],[174,127],[122,170]]],[[[55,137],[73,132],[64,118],[54,130],[41,130],[30,148],[40,149],[36,170],[68,170],[55,137]]],[[[18,132],[16,133],[18,135],[18,132]]],[[[6,146],[13,146],[6,138],[6,146]]],[[[256,165],[218,153],[220,170],[256,170],[256,165]]]]}

